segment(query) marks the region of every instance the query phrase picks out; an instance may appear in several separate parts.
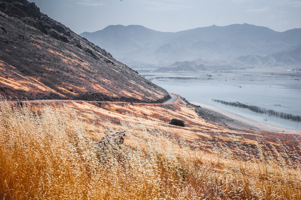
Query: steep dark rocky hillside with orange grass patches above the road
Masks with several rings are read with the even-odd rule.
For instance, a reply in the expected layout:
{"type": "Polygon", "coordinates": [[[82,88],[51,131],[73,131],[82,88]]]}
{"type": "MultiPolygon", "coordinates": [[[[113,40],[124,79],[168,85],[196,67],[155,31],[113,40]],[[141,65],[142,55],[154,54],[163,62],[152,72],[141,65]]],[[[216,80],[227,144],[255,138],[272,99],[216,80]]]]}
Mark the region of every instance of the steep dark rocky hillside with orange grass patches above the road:
{"type": "Polygon", "coordinates": [[[0,94],[162,102],[169,94],[26,0],[0,1],[0,94]]]}

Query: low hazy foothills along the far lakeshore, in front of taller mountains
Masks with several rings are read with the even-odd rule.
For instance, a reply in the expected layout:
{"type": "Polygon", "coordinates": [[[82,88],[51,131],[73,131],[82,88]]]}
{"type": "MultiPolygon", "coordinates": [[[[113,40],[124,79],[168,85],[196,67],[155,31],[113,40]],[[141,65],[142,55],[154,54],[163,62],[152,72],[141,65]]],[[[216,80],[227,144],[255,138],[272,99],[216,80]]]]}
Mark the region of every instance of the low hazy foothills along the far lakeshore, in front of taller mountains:
{"type": "Polygon", "coordinates": [[[153,72],[203,72],[203,71],[229,71],[245,69],[261,69],[275,71],[298,70],[301,64],[301,48],[281,51],[268,55],[240,56],[234,60],[192,60],[174,62],[165,67],[152,70],[153,72]]]}

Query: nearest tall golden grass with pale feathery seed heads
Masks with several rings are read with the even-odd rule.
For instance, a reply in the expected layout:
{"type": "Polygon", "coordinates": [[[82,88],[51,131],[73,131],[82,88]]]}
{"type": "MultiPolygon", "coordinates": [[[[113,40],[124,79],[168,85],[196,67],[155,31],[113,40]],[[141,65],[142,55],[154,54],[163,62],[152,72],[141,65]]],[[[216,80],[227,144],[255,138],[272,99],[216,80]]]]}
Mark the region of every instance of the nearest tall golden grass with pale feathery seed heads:
{"type": "Polygon", "coordinates": [[[299,153],[261,138],[244,161],[222,137],[210,153],[127,119],[123,145],[96,145],[85,123],[68,108],[0,104],[0,199],[301,199],[299,153]]]}

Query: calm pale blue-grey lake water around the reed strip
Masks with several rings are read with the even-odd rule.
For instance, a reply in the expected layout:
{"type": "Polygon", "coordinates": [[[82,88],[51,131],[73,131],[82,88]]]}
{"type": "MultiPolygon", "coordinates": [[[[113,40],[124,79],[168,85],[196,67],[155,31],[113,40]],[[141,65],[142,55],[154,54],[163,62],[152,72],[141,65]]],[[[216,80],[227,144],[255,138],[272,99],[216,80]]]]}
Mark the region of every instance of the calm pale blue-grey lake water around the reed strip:
{"type": "Polygon", "coordinates": [[[212,101],[238,101],[240,103],[273,109],[278,112],[301,115],[301,74],[141,74],[167,91],[186,100],[221,108],[267,124],[301,130],[301,122],[293,122],[247,109],[226,106],[212,101]]]}

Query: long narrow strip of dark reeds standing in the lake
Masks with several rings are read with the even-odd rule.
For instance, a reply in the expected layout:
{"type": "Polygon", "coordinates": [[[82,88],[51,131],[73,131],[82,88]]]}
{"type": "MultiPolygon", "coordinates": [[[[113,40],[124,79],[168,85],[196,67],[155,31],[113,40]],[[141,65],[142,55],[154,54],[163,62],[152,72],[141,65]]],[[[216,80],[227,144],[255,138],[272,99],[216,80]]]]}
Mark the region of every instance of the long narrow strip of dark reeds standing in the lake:
{"type": "Polygon", "coordinates": [[[300,115],[292,115],[289,113],[285,113],[285,112],[278,112],[272,109],[267,109],[267,108],[261,108],[259,106],[253,106],[253,105],[247,105],[244,103],[240,103],[240,102],[233,102],[233,101],[224,101],[224,100],[217,100],[217,99],[212,99],[215,102],[218,103],[222,103],[228,106],[235,106],[235,107],[239,107],[239,108],[246,108],[249,109],[253,112],[258,112],[258,113],[262,113],[262,114],[267,114],[268,116],[274,116],[274,117],[279,117],[279,118],[283,118],[283,119],[290,119],[292,121],[295,122],[301,122],[301,116],[300,115]]]}

